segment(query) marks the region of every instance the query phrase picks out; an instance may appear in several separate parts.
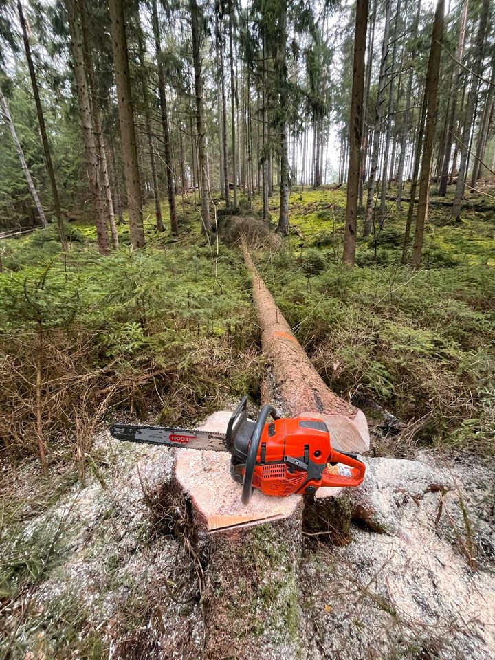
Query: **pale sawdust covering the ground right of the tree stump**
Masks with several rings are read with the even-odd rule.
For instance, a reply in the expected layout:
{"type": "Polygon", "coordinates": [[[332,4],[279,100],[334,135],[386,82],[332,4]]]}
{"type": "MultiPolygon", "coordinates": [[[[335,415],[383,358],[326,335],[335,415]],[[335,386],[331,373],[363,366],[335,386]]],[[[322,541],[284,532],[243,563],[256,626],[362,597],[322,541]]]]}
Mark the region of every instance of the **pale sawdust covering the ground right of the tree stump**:
{"type": "MultiPolygon", "coordinates": [[[[417,465],[417,463],[415,463],[417,465]]],[[[472,467],[472,466],[471,466],[472,467]]],[[[447,469],[454,481],[457,467],[447,469]]],[[[470,483],[476,470],[465,466],[470,483]]],[[[490,468],[477,468],[476,497],[487,495],[490,468]]],[[[448,494],[444,511],[462,529],[456,491],[448,494]]],[[[464,494],[467,501],[469,494],[464,494]]],[[[342,660],[382,657],[488,660],[495,657],[495,577],[493,556],[485,570],[474,571],[451,538],[452,523],[439,515],[439,493],[410,498],[401,507],[396,536],[353,528],[345,548],[319,547],[302,566],[304,591],[319,584],[325,597],[311,598],[312,619],[306,619],[309,657],[342,660]],[[310,632],[308,631],[310,629],[310,632]],[[338,634],[335,634],[338,631],[338,634]]],[[[494,538],[483,525],[481,511],[470,507],[475,527],[494,538]],[[481,514],[481,518],[480,518],[481,514]]]]}

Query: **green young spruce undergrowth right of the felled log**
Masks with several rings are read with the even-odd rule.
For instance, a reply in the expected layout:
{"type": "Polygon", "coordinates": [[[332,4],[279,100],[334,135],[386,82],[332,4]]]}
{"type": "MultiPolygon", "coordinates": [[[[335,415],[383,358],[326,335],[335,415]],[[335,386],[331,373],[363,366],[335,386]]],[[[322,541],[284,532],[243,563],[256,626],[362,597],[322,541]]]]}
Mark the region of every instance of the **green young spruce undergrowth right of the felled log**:
{"type": "Polygon", "coordinates": [[[271,256],[262,273],[330,388],[418,423],[423,441],[491,451],[490,270],[349,271],[315,261],[313,250],[271,256]]]}

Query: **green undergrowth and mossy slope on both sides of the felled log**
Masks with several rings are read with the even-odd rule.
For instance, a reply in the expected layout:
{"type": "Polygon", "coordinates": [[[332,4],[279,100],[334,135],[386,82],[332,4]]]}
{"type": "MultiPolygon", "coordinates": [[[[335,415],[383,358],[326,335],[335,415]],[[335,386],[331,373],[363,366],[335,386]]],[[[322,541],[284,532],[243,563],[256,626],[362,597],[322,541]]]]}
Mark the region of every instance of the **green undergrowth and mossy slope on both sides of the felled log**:
{"type": "Polygon", "coordinates": [[[194,423],[243,393],[256,400],[263,361],[235,238],[244,223],[258,243],[263,230],[265,282],[333,390],[364,408],[386,406],[423,441],[491,450],[494,239],[483,200],[454,228],[435,203],[433,195],[430,267],[420,272],[399,263],[406,203],[388,203],[383,228],[358,242],[358,267],[340,265],[342,188],[294,192],[298,233],[283,245],[242,197],[239,209],[218,208],[232,248],[201,237],[186,205],[179,241],[157,234],[147,212],[146,250],[126,246],[121,225],[121,247],[107,259],[82,222],[67,228],[66,255],[54,228],[9,241],[0,276],[5,448],[16,459],[42,443],[50,460],[63,440],[83,477],[94,430],[123,410],[194,423]]]}

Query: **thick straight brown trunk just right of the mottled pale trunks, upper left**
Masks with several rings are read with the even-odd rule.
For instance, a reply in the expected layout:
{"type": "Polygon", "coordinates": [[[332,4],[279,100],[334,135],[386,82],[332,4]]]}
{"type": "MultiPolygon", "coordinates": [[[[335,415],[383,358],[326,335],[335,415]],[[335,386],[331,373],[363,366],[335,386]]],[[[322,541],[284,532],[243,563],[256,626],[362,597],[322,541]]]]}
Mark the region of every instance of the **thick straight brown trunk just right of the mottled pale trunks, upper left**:
{"type": "Polygon", "coordinates": [[[110,32],[117,84],[117,104],[122,140],[122,157],[129,203],[129,229],[134,248],[144,246],[144,226],[142,194],[139,167],[137,165],[137,145],[134,127],[134,111],[129,75],[129,54],[122,0],[109,0],[110,32]]]}

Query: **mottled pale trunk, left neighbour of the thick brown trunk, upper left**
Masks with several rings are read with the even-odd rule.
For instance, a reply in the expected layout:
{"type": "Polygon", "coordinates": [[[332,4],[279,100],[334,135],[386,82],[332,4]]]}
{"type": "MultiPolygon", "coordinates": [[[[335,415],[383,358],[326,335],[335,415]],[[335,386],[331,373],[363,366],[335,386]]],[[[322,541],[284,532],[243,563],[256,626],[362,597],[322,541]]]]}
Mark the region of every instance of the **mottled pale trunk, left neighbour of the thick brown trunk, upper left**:
{"type": "Polygon", "coordinates": [[[78,0],[66,0],[66,6],[67,14],[69,15],[72,59],[74,61],[74,78],[76,80],[81,125],[83,126],[83,141],[85,144],[89,186],[91,188],[91,197],[93,198],[96,214],[98,250],[100,250],[101,254],[108,254],[110,245],[107,230],[107,214],[105,212],[104,191],[100,185],[98,143],[94,133],[93,118],[91,116],[91,100],[85,71],[83,27],[80,19],[82,8],[80,7],[78,0]]]}

